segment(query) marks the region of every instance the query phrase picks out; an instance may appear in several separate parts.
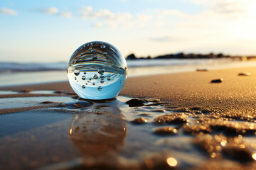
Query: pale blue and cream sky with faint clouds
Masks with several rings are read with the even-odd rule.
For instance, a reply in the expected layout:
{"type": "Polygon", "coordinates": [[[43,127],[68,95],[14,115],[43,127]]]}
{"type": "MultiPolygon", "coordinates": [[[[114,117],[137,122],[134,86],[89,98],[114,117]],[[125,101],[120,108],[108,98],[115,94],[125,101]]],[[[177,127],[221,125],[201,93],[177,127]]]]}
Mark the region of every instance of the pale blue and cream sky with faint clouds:
{"type": "Polygon", "coordinates": [[[255,0],[1,0],[0,62],[68,62],[85,42],[126,57],[256,55],[255,0]]]}

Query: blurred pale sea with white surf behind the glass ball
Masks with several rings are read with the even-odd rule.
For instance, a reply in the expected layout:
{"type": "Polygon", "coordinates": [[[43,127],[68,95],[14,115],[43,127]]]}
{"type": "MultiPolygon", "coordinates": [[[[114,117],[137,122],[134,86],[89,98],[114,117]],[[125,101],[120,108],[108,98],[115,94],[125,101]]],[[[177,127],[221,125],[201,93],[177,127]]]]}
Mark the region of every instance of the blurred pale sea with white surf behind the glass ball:
{"type": "MultiPolygon", "coordinates": [[[[21,86],[68,81],[67,66],[68,62],[0,62],[0,86],[21,86]]],[[[255,66],[256,61],[240,61],[230,58],[127,60],[127,77],[195,72],[196,69],[210,70],[255,66]]]]}

